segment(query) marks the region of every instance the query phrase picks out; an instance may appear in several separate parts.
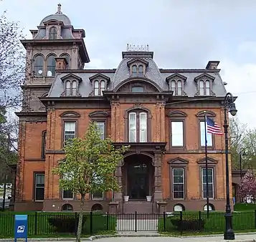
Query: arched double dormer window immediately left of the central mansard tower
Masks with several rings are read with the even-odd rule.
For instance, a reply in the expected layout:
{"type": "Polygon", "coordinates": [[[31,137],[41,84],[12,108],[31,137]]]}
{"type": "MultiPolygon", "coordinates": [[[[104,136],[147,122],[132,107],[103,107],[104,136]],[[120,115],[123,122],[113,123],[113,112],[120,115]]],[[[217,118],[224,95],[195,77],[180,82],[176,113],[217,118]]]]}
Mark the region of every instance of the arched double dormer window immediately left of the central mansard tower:
{"type": "Polygon", "coordinates": [[[92,94],[94,96],[103,96],[103,91],[107,89],[110,78],[105,76],[105,74],[95,74],[93,77],[89,77],[89,79],[93,85],[92,94]]]}

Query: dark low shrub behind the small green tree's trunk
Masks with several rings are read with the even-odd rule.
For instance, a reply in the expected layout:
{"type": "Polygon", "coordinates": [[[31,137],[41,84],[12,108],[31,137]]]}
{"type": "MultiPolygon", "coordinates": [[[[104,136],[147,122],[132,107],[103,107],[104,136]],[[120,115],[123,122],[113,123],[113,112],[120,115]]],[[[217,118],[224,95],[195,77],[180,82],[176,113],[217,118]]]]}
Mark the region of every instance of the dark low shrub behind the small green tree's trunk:
{"type": "MultiPolygon", "coordinates": [[[[85,224],[87,216],[82,218],[82,226],[85,224]]],[[[78,216],[53,216],[48,218],[49,225],[54,227],[57,233],[75,233],[78,226],[78,216]]]]}

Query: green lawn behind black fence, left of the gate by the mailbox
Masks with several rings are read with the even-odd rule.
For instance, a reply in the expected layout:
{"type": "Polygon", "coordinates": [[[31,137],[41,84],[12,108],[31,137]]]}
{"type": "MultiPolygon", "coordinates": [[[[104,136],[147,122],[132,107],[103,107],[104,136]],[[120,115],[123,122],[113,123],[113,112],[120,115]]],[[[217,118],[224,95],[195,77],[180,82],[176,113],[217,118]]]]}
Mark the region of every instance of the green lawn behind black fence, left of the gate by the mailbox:
{"type": "MultiPolygon", "coordinates": [[[[67,219],[75,220],[75,213],[46,213],[46,212],[4,212],[0,213],[0,238],[10,238],[14,235],[14,215],[27,214],[28,215],[28,235],[29,238],[34,237],[54,237],[54,236],[71,236],[75,233],[65,232],[60,233],[56,231],[54,226],[49,224],[49,218],[60,218],[62,223],[67,219]]],[[[116,219],[113,216],[107,216],[103,213],[93,213],[93,220],[91,221],[90,213],[85,213],[85,224],[82,228],[83,236],[90,236],[98,233],[111,233],[115,231],[116,219]],[[91,228],[92,226],[92,228],[91,228]],[[91,233],[92,232],[92,233],[91,233]]],[[[67,227],[70,227],[66,223],[67,227]]]]}

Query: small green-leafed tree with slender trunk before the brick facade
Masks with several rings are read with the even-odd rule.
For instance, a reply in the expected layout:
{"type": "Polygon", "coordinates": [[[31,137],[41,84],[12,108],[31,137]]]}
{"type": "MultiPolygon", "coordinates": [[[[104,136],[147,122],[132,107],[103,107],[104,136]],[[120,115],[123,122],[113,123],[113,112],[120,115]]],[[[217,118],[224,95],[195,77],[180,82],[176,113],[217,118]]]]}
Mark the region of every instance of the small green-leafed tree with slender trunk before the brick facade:
{"type": "Polygon", "coordinates": [[[101,140],[100,130],[91,122],[85,136],[68,140],[64,150],[65,160],[52,172],[60,176],[60,188],[80,195],[77,228],[77,241],[80,241],[85,195],[120,189],[113,173],[128,147],[117,149],[110,138],[101,140]]]}

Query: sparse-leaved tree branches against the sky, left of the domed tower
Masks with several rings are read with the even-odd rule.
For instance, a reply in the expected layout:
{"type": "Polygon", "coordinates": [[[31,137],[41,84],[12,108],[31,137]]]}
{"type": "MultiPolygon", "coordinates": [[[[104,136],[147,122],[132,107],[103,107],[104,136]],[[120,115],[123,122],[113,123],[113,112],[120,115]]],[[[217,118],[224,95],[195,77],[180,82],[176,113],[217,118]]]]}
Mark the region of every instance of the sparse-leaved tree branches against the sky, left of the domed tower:
{"type": "Polygon", "coordinates": [[[6,11],[0,16],[0,106],[17,107],[22,101],[20,85],[25,77],[26,52],[19,23],[9,21],[6,11]]]}

